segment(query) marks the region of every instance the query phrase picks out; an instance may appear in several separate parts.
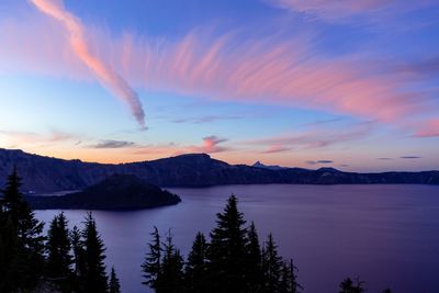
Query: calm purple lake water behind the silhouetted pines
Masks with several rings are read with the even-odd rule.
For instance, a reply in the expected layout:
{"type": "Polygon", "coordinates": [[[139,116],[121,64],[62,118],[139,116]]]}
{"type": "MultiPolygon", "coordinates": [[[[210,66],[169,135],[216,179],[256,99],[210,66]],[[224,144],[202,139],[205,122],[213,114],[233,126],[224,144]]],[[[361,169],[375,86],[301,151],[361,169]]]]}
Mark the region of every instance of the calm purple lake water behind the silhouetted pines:
{"type": "MultiPolygon", "coordinates": [[[[261,240],[271,232],[285,258],[293,258],[304,292],[338,292],[347,278],[365,281],[367,292],[439,292],[439,187],[435,185],[224,185],[172,188],[178,205],[130,212],[95,211],[106,246],[127,293],[148,292],[140,263],[149,233],[172,229],[187,255],[196,232],[207,234],[232,193],[261,240]]],[[[37,211],[48,223],[59,211],[37,211]]],[[[81,225],[86,211],[66,211],[81,225]]],[[[47,225],[46,225],[47,226],[47,225]]]]}

